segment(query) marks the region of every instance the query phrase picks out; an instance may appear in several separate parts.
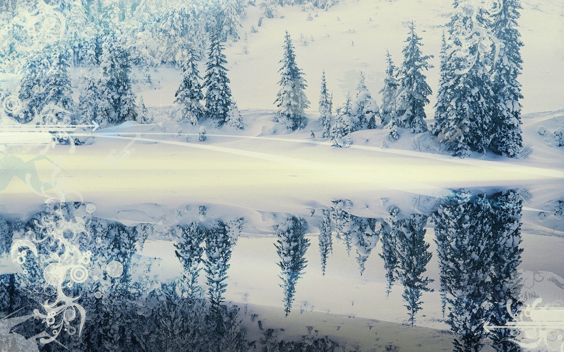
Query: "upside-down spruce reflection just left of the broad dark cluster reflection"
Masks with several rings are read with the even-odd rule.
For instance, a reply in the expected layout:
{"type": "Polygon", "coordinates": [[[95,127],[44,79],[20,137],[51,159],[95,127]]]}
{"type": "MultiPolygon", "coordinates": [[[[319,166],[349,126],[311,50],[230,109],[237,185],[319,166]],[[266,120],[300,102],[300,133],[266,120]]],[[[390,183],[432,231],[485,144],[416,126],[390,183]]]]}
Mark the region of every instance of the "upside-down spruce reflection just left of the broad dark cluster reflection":
{"type": "Polygon", "coordinates": [[[415,316],[421,310],[423,292],[433,291],[429,288],[432,279],[424,277],[426,266],[431,260],[431,252],[428,251],[429,243],[425,242],[425,225],[427,217],[420,214],[412,214],[409,219],[398,219],[398,209],[390,211],[390,235],[394,239],[394,251],[396,265],[394,268],[395,278],[403,286],[403,300],[408,310],[411,326],[415,324],[415,316]]]}

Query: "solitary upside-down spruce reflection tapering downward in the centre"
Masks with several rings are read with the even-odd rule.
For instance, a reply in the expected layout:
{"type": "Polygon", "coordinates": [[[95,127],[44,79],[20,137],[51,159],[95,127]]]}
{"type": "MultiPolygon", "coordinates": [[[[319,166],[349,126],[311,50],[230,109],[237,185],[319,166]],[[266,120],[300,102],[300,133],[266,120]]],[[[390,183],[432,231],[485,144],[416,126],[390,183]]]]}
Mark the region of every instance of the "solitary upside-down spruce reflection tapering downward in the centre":
{"type": "Polygon", "coordinates": [[[290,314],[296,283],[305,274],[307,266],[306,251],[310,246],[310,240],[305,238],[307,221],[293,216],[275,226],[277,237],[276,252],[280,257],[278,266],[282,272],[279,277],[282,280],[280,287],[284,289],[284,311],[286,316],[290,314]]]}

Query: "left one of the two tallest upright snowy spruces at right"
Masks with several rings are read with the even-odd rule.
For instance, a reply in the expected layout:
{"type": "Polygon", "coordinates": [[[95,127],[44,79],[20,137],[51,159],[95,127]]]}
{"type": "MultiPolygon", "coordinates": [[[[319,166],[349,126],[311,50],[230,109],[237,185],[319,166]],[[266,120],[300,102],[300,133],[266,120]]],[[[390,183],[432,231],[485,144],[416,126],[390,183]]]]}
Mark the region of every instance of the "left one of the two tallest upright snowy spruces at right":
{"type": "Polygon", "coordinates": [[[440,64],[439,90],[435,104],[433,133],[439,142],[455,155],[468,157],[472,150],[484,153],[490,145],[492,82],[486,63],[477,47],[466,52],[461,39],[470,30],[472,21],[465,11],[454,3],[448,38],[443,42],[440,64]],[[477,55],[469,64],[466,56],[477,55]]]}

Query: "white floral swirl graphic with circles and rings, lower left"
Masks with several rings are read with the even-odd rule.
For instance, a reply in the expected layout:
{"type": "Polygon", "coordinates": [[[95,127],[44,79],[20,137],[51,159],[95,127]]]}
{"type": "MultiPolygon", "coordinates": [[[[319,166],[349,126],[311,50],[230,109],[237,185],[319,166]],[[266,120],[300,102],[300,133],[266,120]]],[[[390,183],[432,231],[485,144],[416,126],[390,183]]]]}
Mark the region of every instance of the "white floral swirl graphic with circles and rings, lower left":
{"type": "MultiPolygon", "coordinates": [[[[59,176],[60,171],[60,167],[56,166],[51,181],[42,182],[39,188],[37,184],[32,184],[32,175],[26,175],[29,188],[49,204],[48,211],[39,221],[34,221],[35,231],[27,231],[22,238],[15,240],[10,251],[16,264],[23,266],[31,258],[43,271],[43,293],[48,298],[40,302],[41,310],[33,311],[46,324],[47,337],[41,338],[39,342],[42,344],[55,341],[62,331],[81,336],[86,322],[86,310],[78,303],[82,293],[77,288],[81,288],[80,284],[89,278],[87,265],[92,252],[81,251],[76,243],[78,236],[89,235],[89,230],[85,220],[74,216],[72,206],[67,205],[72,198],[81,203],[83,200],[76,191],[65,188],[69,181],[59,176]],[[40,246],[47,253],[40,253],[40,246]]],[[[89,213],[94,210],[93,205],[86,207],[89,213]]],[[[23,272],[29,274],[26,269],[23,272]]]]}

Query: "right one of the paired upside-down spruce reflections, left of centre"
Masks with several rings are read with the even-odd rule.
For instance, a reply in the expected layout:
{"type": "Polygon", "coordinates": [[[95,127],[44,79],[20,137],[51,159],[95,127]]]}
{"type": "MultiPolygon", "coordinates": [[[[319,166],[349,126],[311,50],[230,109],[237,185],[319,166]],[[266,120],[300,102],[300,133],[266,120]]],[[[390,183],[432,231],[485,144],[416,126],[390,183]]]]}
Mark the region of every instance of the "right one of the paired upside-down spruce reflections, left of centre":
{"type": "Polygon", "coordinates": [[[229,260],[233,246],[237,243],[241,230],[241,219],[228,223],[216,220],[211,228],[206,229],[206,261],[205,273],[208,283],[208,298],[214,314],[224,301],[223,293],[227,288],[225,280],[228,278],[229,260]]]}

